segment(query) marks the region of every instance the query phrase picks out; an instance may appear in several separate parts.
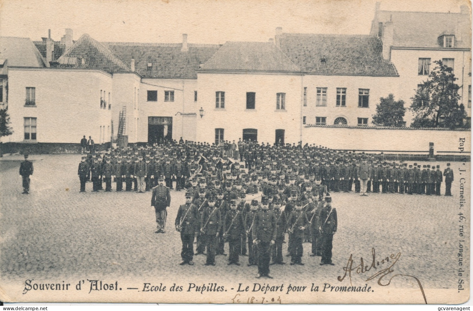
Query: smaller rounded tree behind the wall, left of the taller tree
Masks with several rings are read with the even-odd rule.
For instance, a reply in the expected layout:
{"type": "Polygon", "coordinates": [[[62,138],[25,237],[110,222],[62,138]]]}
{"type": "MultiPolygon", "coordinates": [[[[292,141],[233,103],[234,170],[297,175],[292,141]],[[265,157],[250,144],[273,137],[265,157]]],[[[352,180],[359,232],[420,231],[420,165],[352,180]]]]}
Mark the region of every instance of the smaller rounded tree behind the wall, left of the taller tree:
{"type": "Polygon", "coordinates": [[[402,127],[404,126],[405,113],[404,101],[395,101],[394,95],[389,94],[386,98],[379,98],[372,123],[380,126],[402,127]]]}

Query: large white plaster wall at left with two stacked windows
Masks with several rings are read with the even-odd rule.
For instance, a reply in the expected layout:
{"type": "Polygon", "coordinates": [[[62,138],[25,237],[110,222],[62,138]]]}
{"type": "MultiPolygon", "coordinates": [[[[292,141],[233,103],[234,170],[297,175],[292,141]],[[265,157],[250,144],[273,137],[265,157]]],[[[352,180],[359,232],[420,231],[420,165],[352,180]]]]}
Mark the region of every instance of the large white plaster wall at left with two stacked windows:
{"type": "Polygon", "coordinates": [[[111,76],[101,71],[10,68],[8,112],[14,133],[3,141],[23,142],[24,117],[36,117],[37,142],[79,143],[90,135],[99,143],[100,126],[108,130],[111,120],[111,110],[100,108],[101,89],[112,90],[111,76]],[[36,107],[25,107],[26,87],[36,88],[36,107]]]}

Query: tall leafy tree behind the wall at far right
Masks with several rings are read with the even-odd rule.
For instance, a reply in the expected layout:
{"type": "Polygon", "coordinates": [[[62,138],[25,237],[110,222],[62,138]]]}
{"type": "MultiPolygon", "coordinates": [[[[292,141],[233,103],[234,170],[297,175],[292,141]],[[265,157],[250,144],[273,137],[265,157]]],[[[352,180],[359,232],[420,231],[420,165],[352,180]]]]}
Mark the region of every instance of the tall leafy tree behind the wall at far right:
{"type": "Polygon", "coordinates": [[[453,69],[442,61],[435,61],[429,78],[412,97],[409,110],[414,116],[411,127],[464,127],[466,118],[463,104],[458,105],[460,86],[455,83],[453,69]]]}

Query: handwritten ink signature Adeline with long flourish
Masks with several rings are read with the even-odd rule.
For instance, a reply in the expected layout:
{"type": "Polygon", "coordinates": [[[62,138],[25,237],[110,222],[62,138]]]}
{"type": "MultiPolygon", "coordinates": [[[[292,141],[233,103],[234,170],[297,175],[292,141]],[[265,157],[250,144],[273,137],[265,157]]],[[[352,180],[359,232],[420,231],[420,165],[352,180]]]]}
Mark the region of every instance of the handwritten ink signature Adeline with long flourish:
{"type": "Polygon", "coordinates": [[[422,284],[420,284],[420,280],[413,276],[413,275],[404,275],[404,274],[395,274],[395,275],[390,275],[391,278],[389,278],[389,280],[387,280],[387,283],[383,283],[382,280],[383,278],[386,276],[386,275],[389,275],[391,273],[394,272],[394,265],[395,263],[399,260],[399,258],[401,257],[401,252],[398,252],[397,254],[391,254],[389,255],[388,257],[385,257],[381,260],[377,260],[376,259],[376,251],[374,248],[371,249],[371,254],[373,256],[373,259],[371,261],[371,264],[369,266],[365,266],[365,263],[363,261],[363,257],[360,257],[360,263],[358,266],[356,267],[353,267],[353,254],[350,254],[350,258],[348,258],[348,263],[346,265],[346,267],[343,267],[343,271],[345,271],[345,274],[343,276],[338,276],[337,279],[342,282],[345,277],[347,276],[348,274],[348,278],[350,279],[350,284],[351,284],[351,272],[354,271],[356,274],[365,274],[367,273],[368,271],[370,271],[372,268],[374,269],[377,269],[379,266],[383,266],[385,264],[389,264],[388,267],[382,269],[382,270],[379,270],[378,272],[376,272],[374,275],[371,275],[370,277],[368,277],[366,279],[366,281],[371,281],[373,279],[376,279],[378,280],[378,285],[380,286],[387,286],[389,284],[391,284],[391,280],[395,277],[395,276],[409,276],[409,277],[412,277],[414,278],[416,281],[417,281],[417,284],[419,284],[419,288],[420,288],[420,292],[422,293],[422,296],[424,297],[424,302],[427,304],[427,298],[425,297],[425,293],[424,293],[424,289],[422,287],[422,284]]]}

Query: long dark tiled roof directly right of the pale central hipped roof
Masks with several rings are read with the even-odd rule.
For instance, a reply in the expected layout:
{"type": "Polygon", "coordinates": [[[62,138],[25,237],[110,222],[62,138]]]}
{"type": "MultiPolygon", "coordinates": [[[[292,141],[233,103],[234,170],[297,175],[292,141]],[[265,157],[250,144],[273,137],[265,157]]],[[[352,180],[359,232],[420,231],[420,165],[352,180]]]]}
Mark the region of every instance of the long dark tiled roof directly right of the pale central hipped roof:
{"type": "Polygon", "coordinates": [[[280,49],[302,71],[314,75],[397,76],[383,59],[381,41],[365,35],[282,34],[280,49]]]}

